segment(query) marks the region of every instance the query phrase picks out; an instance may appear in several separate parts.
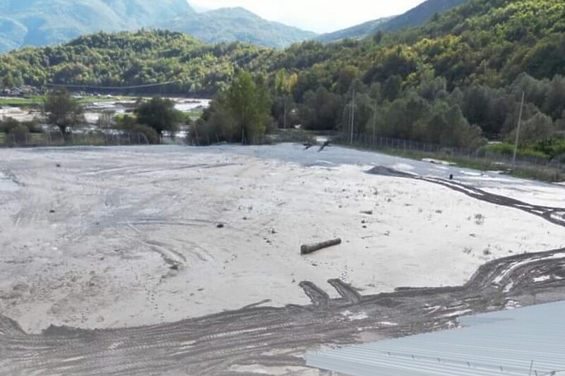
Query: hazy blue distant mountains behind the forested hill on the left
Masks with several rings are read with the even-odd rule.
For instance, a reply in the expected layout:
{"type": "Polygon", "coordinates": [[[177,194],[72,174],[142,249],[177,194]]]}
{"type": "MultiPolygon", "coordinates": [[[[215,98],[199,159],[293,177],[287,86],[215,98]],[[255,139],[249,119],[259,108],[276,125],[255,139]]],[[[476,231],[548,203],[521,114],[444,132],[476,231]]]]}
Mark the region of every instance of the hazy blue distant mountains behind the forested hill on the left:
{"type": "Polygon", "coordinates": [[[0,0],[0,14],[0,52],[59,44],[97,31],[141,28],[179,30],[206,42],[272,47],[315,36],[241,8],[196,13],[186,0],[0,0]]]}

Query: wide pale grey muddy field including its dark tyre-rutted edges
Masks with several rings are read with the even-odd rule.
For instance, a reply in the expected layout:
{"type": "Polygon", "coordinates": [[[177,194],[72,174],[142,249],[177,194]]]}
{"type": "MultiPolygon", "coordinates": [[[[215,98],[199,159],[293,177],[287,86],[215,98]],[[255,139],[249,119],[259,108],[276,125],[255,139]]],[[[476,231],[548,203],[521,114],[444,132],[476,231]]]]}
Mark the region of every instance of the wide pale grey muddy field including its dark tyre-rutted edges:
{"type": "Polygon", "coordinates": [[[0,375],[316,375],[565,298],[563,187],[340,152],[0,150],[0,375]]]}

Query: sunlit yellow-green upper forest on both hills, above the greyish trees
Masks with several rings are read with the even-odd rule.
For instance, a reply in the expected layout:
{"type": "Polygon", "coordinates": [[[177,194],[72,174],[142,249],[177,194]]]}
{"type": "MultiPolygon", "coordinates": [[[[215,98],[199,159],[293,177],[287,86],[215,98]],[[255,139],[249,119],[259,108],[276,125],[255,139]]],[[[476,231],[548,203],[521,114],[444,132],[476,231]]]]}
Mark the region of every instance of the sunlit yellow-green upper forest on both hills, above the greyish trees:
{"type": "Polygon", "coordinates": [[[304,89],[333,87],[346,76],[371,83],[397,75],[412,85],[430,72],[446,78],[450,87],[476,82],[504,85],[521,72],[536,78],[565,73],[564,20],[565,3],[560,0],[472,0],[420,28],[388,33],[379,43],[371,38],[329,45],[304,42],[276,51],[247,44],[204,45],[176,32],[102,34],[103,38],[93,35],[60,47],[0,56],[0,78],[18,73],[35,85],[43,80],[79,85],[108,80],[154,83],[189,71],[182,64],[197,60],[206,66],[206,59],[223,59],[229,64],[222,69],[229,73],[234,69],[230,59],[237,56],[246,58],[239,66],[251,71],[275,73],[284,68],[299,73],[304,89]],[[96,47],[100,50],[84,45],[93,39],[101,41],[96,47]],[[146,47],[120,51],[114,40],[126,47],[131,41],[146,47]],[[105,67],[92,61],[105,61],[105,67]]]}

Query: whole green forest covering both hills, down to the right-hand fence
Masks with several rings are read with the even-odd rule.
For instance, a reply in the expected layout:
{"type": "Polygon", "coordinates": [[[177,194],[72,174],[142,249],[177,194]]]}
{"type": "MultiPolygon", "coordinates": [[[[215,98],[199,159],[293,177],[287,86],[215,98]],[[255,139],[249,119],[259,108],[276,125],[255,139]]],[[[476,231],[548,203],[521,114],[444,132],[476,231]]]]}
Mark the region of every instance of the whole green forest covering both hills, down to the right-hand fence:
{"type": "Polygon", "coordinates": [[[1,55],[0,77],[6,86],[171,81],[164,94],[213,96],[249,71],[268,87],[279,126],[340,131],[355,108],[357,134],[461,147],[512,139],[525,93],[521,142],[539,149],[565,129],[564,31],[562,1],[472,0],[419,28],[285,50],[100,33],[1,55]]]}

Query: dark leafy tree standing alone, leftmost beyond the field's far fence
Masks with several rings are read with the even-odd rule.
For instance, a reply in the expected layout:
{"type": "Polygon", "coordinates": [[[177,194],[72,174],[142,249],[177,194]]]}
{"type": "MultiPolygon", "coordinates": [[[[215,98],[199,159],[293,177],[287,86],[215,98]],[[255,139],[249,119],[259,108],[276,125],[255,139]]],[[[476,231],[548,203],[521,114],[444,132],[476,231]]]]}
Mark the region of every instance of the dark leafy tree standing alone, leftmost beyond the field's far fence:
{"type": "Polygon", "coordinates": [[[57,126],[64,135],[85,123],[83,107],[66,89],[49,92],[44,102],[44,111],[47,113],[47,123],[57,126]]]}

